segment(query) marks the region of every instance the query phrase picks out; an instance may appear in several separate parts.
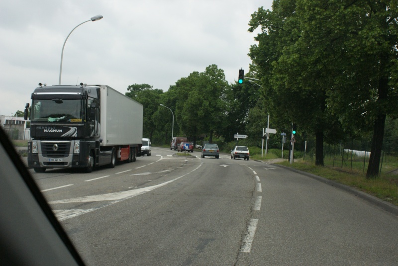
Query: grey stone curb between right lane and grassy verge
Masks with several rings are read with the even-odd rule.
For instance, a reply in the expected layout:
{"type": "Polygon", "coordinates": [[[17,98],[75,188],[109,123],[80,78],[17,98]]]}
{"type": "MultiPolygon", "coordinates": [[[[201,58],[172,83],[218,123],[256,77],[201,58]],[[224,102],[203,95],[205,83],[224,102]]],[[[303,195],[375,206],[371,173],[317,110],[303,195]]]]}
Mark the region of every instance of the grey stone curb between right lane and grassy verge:
{"type": "MultiPolygon", "coordinates": [[[[262,161],[258,161],[258,162],[262,162],[262,161]]],[[[277,164],[271,164],[271,165],[277,166],[277,167],[281,167],[281,168],[287,169],[289,171],[298,173],[300,175],[303,175],[303,176],[306,176],[306,177],[310,177],[310,178],[313,178],[315,180],[321,181],[323,183],[326,183],[326,184],[332,185],[334,187],[343,189],[343,190],[345,190],[347,192],[350,192],[350,193],[358,196],[359,198],[367,200],[368,202],[370,202],[370,203],[372,203],[372,204],[384,209],[385,211],[388,211],[388,212],[398,216],[398,206],[396,206],[394,204],[391,204],[390,202],[384,201],[384,200],[382,200],[382,199],[380,199],[378,197],[372,196],[372,195],[370,195],[368,193],[365,193],[363,191],[360,191],[358,189],[355,189],[355,188],[353,188],[351,186],[348,186],[348,185],[345,185],[345,184],[342,184],[342,183],[339,183],[339,182],[336,182],[336,181],[333,181],[333,180],[330,180],[330,179],[327,179],[327,178],[324,178],[324,177],[319,177],[319,176],[316,176],[316,175],[313,175],[313,174],[309,174],[309,173],[306,173],[306,172],[303,172],[303,171],[300,171],[300,170],[297,170],[297,169],[294,169],[294,168],[290,168],[290,167],[287,167],[287,166],[277,165],[277,164]]]]}

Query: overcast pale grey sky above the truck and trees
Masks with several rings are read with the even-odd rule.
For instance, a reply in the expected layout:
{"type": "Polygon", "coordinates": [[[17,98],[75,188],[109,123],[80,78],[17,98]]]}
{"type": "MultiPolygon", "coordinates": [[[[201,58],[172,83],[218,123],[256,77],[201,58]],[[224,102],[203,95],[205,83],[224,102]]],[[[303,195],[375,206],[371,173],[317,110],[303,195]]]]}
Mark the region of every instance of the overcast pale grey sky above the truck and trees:
{"type": "MultiPolygon", "coordinates": [[[[251,63],[251,14],[272,0],[12,0],[0,2],[0,115],[23,111],[39,83],[132,84],[167,91],[215,64],[234,83],[251,63]]],[[[245,73],[246,73],[245,72],[245,73]]]]}

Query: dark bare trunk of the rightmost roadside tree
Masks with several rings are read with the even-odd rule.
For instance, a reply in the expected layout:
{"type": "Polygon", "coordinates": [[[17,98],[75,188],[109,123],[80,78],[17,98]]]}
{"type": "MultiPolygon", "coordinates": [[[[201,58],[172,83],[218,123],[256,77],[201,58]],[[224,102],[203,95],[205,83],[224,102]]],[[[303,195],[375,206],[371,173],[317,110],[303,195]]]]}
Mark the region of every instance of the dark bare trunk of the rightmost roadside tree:
{"type": "Polygon", "coordinates": [[[377,116],[372,137],[372,149],[369,158],[368,171],[366,172],[367,178],[376,178],[379,176],[379,165],[383,148],[385,122],[385,114],[380,114],[377,116]]]}

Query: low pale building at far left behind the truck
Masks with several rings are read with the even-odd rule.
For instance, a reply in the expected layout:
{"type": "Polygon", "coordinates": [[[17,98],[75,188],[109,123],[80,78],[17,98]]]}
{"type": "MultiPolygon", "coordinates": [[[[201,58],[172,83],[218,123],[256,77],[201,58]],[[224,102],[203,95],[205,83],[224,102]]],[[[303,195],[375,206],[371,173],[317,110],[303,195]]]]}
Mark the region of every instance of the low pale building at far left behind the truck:
{"type": "Polygon", "coordinates": [[[14,115],[0,115],[0,125],[12,140],[30,140],[29,121],[14,115]]]}

